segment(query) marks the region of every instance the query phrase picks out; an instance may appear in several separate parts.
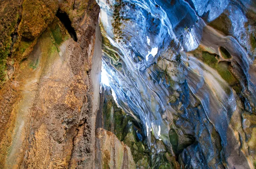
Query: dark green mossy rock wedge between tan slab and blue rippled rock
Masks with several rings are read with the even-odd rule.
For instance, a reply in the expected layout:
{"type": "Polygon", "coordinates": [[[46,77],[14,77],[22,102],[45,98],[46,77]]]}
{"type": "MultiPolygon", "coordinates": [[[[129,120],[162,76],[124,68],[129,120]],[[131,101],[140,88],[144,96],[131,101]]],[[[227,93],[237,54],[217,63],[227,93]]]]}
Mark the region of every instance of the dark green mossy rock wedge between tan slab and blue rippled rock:
{"type": "MultiPolygon", "coordinates": [[[[140,124],[134,120],[134,117],[125,114],[116,105],[110,87],[102,86],[101,98],[102,105],[100,105],[97,114],[98,124],[96,123],[96,127],[99,129],[103,127],[105,130],[111,131],[119,141],[131,149],[131,156],[137,169],[179,167],[175,158],[169,154],[163,141],[152,138],[154,144],[150,148],[148,147],[146,137],[142,135],[140,124]]],[[[103,138],[101,140],[105,141],[103,138]]],[[[102,146],[98,147],[101,148],[102,146]]]]}

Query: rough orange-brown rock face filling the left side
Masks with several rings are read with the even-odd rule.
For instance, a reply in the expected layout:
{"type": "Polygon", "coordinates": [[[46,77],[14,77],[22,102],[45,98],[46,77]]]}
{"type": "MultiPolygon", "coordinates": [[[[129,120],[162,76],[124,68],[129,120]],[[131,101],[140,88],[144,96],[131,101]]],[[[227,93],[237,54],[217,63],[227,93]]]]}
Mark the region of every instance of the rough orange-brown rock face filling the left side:
{"type": "Polygon", "coordinates": [[[92,168],[99,6],[93,0],[0,4],[0,168],[92,168]]]}

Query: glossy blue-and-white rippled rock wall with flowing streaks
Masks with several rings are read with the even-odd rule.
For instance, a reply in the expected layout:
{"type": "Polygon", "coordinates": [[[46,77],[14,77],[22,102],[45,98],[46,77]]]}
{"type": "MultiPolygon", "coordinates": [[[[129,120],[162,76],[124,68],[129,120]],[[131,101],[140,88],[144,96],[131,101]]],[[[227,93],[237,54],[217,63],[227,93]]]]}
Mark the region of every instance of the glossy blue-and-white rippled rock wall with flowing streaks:
{"type": "Polygon", "coordinates": [[[256,3],[98,0],[103,68],[148,146],[183,168],[256,165],[256,3]]]}

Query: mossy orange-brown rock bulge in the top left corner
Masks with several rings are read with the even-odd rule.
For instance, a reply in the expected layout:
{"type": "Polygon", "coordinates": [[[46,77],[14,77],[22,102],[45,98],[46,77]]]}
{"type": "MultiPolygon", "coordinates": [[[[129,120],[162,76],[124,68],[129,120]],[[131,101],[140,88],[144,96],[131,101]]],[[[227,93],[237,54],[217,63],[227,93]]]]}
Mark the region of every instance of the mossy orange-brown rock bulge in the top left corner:
{"type": "Polygon", "coordinates": [[[1,85],[6,80],[8,58],[19,63],[29,55],[38,37],[55,17],[58,1],[24,0],[21,14],[21,5],[16,0],[1,2],[0,9],[1,85]]]}

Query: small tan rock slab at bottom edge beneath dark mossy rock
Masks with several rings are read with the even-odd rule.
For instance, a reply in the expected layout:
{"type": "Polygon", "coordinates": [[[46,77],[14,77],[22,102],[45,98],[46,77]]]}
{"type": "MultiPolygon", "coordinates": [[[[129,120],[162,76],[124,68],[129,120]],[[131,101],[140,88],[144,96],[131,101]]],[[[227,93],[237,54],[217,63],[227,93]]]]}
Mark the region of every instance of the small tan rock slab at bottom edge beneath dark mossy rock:
{"type": "Polygon", "coordinates": [[[96,168],[135,169],[131,150],[113,132],[103,128],[96,130],[96,168]]]}

